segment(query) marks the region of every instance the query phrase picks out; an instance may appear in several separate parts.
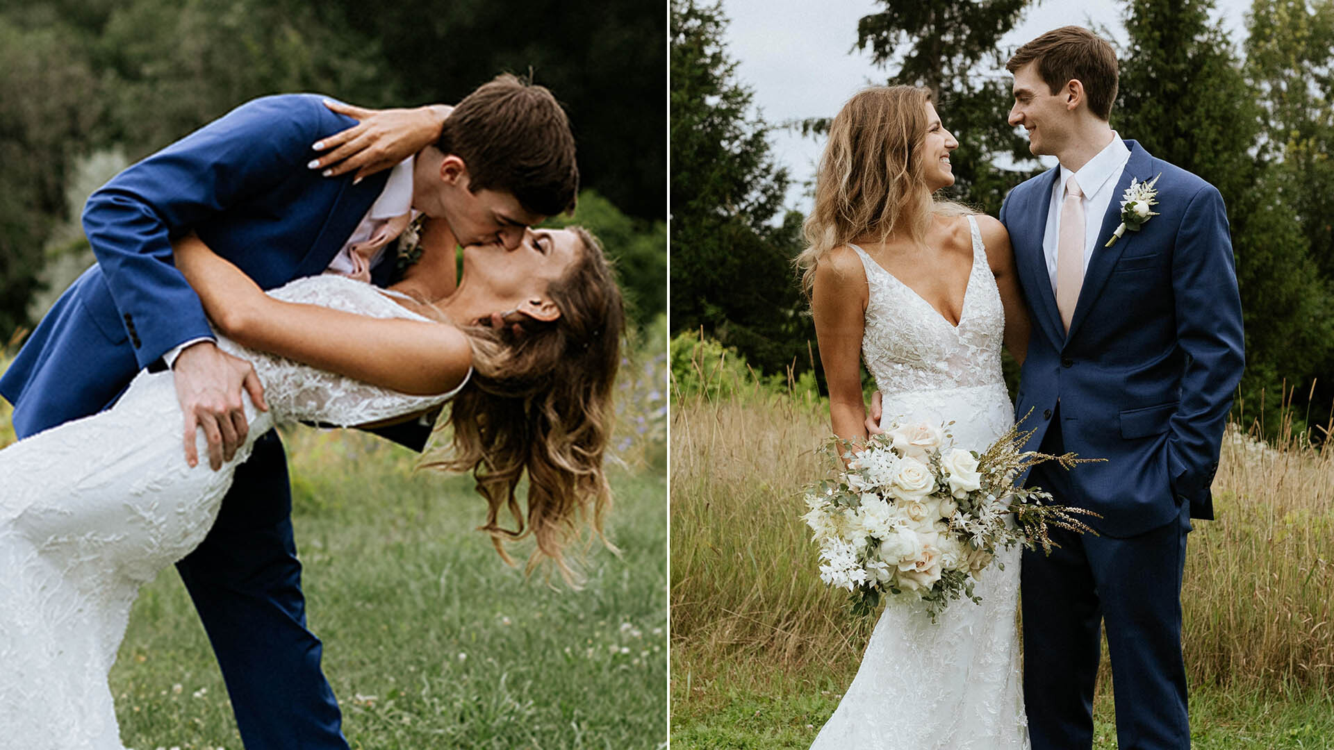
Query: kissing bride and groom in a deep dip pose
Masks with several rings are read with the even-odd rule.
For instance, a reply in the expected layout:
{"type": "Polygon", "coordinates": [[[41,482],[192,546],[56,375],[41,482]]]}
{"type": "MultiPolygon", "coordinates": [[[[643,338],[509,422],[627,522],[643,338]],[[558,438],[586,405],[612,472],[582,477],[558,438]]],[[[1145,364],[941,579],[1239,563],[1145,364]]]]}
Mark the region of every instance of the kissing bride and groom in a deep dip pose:
{"type": "Polygon", "coordinates": [[[121,749],[107,674],[139,586],[175,563],[245,747],[347,749],[279,423],[420,451],[447,408],[442,463],[476,478],[500,555],[531,535],[530,570],[575,577],[563,550],[610,500],[624,327],[600,243],[530,228],[576,190],[564,111],[506,75],[452,111],[257,99],[96,191],[96,266],[0,378],[21,438],[0,451],[5,742],[121,749]],[[308,164],[312,144],[339,148],[308,164]],[[354,176],[370,161],[392,168],[354,176]]]}

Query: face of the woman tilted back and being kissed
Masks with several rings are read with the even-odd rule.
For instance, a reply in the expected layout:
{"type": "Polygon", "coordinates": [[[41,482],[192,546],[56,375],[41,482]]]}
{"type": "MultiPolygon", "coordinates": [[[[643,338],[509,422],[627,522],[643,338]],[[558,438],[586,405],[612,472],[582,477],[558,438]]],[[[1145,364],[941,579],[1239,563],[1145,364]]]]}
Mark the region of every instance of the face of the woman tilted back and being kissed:
{"type": "Polygon", "coordinates": [[[463,248],[460,286],[468,286],[487,310],[519,310],[548,320],[559,311],[547,288],[566,275],[582,251],[579,236],[568,230],[526,230],[514,248],[499,242],[470,244],[463,248]]]}

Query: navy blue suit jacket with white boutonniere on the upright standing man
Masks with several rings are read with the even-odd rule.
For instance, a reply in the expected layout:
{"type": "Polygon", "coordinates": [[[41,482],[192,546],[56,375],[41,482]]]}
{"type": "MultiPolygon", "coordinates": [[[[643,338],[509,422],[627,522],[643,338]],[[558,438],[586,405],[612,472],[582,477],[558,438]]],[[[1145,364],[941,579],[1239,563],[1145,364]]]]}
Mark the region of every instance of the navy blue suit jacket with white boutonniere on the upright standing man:
{"type": "Polygon", "coordinates": [[[1091,524],[1110,536],[1162,526],[1182,502],[1193,516],[1213,518],[1210,484],[1245,366],[1222,196],[1125,143],[1130,160],[1101,218],[1069,334],[1042,251],[1059,168],[1014,188],[1000,208],[1033,316],[1015,414],[1037,428],[1029,450],[1059,414],[1066,450],[1107,459],[1075,466],[1074,496],[1063,500],[1102,514],[1091,524]],[[1158,173],[1159,215],[1103,247],[1121,223],[1131,177],[1158,173]]]}

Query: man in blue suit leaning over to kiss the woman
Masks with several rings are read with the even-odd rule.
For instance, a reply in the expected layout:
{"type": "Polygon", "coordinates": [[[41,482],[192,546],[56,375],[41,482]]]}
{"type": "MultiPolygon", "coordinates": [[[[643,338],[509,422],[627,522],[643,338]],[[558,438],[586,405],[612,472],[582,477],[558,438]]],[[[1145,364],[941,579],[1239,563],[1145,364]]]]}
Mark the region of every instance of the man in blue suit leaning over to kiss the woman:
{"type": "MultiPolygon", "coordinates": [[[[172,264],[171,238],[196,232],[264,288],[328,268],[368,271],[383,286],[396,260],[384,252],[386,227],[399,226],[410,207],[448,224],[459,243],[514,248],[527,224],[574,206],[578,169],[564,111],[547,89],[514,76],[464,97],[439,140],[392,172],[325,179],[307,168],[312,144],[355,124],[317,96],[257,99],[95,192],[83,222],[97,264],[61,295],[0,378],[16,434],[97,412],[140,370],[169,366],[187,446],[197,420],[215,468],[235,451],[244,439],[243,387],[253,396],[259,384],[248,363],[215,347],[199,298],[172,264]],[[379,256],[367,252],[376,238],[379,256]]],[[[394,430],[386,436],[415,450],[430,435],[428,424],[394,430]]],[[[305,629],[276,432],[259,438],[237,467],[208,538],[177,570],[245,747],[347,750],[320,642],[305,629]]]]}

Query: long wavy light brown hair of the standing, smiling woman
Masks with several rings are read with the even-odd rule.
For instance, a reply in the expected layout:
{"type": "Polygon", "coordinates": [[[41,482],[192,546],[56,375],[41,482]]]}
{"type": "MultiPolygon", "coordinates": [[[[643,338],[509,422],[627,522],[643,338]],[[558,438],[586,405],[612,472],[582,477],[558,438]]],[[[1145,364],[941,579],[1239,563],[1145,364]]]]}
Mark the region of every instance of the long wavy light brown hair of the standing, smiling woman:
{"type": "Polygon", "coordinates": [[[972,214],[935,199],[927,187],[926,105],[931,92],[915,85],[871,87],[852,95],[830,124],[815,175],[815,207],[803,227],[808,247],[796,256],[807,298],[815,266],[856,238],[904,234],[923,243],[931,218],[972,214]]]}

